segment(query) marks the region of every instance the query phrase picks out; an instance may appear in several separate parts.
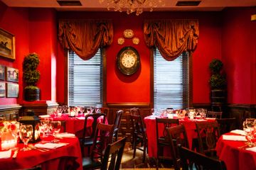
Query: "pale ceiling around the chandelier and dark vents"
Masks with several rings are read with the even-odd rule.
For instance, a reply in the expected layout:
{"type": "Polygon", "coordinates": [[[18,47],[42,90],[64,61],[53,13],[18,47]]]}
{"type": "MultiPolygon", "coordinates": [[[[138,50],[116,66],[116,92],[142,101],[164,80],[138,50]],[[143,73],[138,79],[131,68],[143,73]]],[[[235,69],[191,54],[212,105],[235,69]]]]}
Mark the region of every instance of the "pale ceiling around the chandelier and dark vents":
{"type": "MultiPolygon", "coordinates": [[[[11,7],[56,8],[58,11],[107,11],[107,3],[99,0],[80,0],[82,6],[60,6],[56,0],[1,0],[11,7]]],[[[107,0],[105,0],[107,1],[107,0]]],[[[166,6],[154,11],[220,11],[225,7],[256,6],[256,0],[201,0],[199,6],[175,6],[178,0],[165,0],[166,6]]],[[[191,1],[191,0],[180,0],[191,1]]],[[[256,10],[256,7],[255,7],[256,10]]],[[[145,10],[146,11],[146,10],[145,10]]]]}

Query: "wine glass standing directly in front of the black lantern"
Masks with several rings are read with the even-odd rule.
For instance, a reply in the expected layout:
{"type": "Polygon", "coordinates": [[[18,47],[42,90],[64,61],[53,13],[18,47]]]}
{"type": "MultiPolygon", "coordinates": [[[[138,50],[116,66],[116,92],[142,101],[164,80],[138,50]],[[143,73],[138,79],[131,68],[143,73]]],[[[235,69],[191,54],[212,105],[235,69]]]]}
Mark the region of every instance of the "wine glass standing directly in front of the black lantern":
{"type": "Polygon", "coordinates": [[[28,147],[28,141],[32,139],[33,137],[33,126],[32,125],[21,125],[19,135],[21,137],[22,142],[24,143],[22,151],[28,151],[31,150],[31,148],[28,147]]]}

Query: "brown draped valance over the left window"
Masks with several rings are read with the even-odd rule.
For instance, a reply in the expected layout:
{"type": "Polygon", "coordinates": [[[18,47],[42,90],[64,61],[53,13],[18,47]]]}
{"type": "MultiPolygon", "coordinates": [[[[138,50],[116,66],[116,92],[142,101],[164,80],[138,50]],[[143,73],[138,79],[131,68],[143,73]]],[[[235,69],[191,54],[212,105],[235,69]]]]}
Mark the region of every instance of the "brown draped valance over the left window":
{"type": "Polygon", "coordinates": [[[112,43],[112,22],[107,20],[60,20],[58,38],[65,49],[73,50],[82,60],[89,60],[96,54],[99,47],[112,43]]]}

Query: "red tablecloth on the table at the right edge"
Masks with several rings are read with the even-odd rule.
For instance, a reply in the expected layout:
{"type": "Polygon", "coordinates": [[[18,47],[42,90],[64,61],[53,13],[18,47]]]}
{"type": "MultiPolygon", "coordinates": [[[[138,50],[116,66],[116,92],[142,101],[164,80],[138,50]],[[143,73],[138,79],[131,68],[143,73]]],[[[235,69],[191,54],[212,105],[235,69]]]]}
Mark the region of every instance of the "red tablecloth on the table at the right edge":
{"type": "MultiPolygon", "coordinates": [[[[229,135],[231,133],[225,134],[229,135]]],[[[235,134],[232,134],[235,135],[235,134]]],[[[220,160],[225,162],[228,170],[255,170],[256,152],[247,151],[244,148],[245,142],[223,140],[223,137],[217,142],[216,150],[220,160]]]]}

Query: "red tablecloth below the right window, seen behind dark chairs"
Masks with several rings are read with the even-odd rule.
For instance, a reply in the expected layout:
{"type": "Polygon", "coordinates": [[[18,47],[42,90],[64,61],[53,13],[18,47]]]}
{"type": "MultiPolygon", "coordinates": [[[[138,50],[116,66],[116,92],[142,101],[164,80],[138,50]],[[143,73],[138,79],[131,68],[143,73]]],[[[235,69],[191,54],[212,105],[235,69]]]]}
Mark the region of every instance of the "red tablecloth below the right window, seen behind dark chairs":
{"type": "MultiPolygon", "coordinates": [[[[189,147],[192,147],[193,138],[197,138],[196,133],[196,121],[215,121],[214,119],[207,120],[189,120],[188,118],[180,119],[179,123],[183,124],[186,128],[186,133],[188,136],[189,147]]],[[[156,157],[157,147],[156,147],[156,118],[147,116],[144,118],[144,123],[146,125],[146,135],[148,137],[148,154],[149,157],[156,157]]],[[[163,127],[159,128],[159,132],[163,132],[163,127]]]]}

